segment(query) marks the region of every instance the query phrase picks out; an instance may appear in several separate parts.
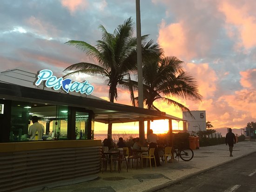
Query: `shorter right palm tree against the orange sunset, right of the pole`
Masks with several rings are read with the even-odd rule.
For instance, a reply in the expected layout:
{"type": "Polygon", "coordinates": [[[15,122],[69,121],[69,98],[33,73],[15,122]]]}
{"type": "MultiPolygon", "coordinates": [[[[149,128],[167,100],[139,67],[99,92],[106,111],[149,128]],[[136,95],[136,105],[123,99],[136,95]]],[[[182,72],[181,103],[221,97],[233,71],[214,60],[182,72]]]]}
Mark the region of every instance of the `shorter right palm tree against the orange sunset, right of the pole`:
{"type": "MultiPolygon", "coordinates": [[[[162,54],[143,63],[143,97],[148,109],[160,111],[154,106],[154,101],[162,100],[168,105],[174,105],[190,113],[189,108],[168,96],[201,101],[202,96],[199,94],[196,81],[192,75],[182,69],[182,63],[183,61],[174,56],[162,57],[162,54]]],[[[137,82],[132,81],[132,83],[137,89],[137,82]]],[[[148,121],[149,129],[150,121],[148,121]]]]}

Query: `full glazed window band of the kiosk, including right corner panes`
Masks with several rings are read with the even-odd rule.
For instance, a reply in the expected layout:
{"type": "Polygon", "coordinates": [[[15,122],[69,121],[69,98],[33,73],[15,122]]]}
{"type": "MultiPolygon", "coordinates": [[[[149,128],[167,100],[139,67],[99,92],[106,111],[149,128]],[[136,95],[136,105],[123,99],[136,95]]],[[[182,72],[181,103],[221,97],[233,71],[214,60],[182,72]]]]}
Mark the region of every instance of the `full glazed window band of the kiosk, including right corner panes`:
{"type": "Polygon", "coordinates": [[[44,126],[42,138],[38,138],[39,140],[64,140],[74,138],[74,133],[75,139],[94,139],[94,119],[89,118],[89,112],[83,108],[12,101],[11,142],[34,139],[35,136],[31,138],[28,134],[29,127],[33,125],[32,116],[37,116],[38,122],[44,126]],[[75,122],[74,117],[68,116],[71,113],[75,113],[75,122]],[[68,123],[71,118],[72,125],[68,123]],[[67,126],[70,126],[71,133],[67,126]],[[68,132],[73,135],[68,136],[68,132]]]}

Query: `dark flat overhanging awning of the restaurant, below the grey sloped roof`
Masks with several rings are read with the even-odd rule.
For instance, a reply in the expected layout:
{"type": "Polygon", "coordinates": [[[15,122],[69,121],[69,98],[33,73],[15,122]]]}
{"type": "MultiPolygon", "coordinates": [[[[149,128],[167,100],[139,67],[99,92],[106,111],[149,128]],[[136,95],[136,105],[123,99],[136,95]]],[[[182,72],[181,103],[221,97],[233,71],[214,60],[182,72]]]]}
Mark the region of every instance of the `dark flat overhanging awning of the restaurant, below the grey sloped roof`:
{"type": "Polygon", "coordinates": [[[47,102],[52,105],[82,107],[93,111],[95,121],[101,123],[125,123],[166,118],[165,113],[155,110],[7,83],[0,83],[0,98],[34,103],[47,102]]]}

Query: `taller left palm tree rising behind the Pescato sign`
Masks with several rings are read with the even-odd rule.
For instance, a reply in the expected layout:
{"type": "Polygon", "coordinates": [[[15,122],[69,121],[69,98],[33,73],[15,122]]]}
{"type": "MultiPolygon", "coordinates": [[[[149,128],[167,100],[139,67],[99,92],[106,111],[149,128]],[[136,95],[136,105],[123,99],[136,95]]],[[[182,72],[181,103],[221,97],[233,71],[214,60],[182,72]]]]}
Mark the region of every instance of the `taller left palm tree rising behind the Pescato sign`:
{"type": "MultiPolygon", "coordinates": [[[[108,97],[110,102],[117,100],[117,86],[122,86],[130,79],[129,72],[135,71],[136,66],[136,38],[133,37],[133,20],[128,18],[119,25],[114,33],[108,33],[104,26],[100,25],[102,39],[97,40],[96,46],[84,41],[69,40],[66,43],[85,52],[94,63],[81,62],[68,66],[64,72],[67,75],[86,73],[104,77],[105,84],[109,86],[108,97]]],[[[148,35],[141,37],[143,40],[142,55],[160,52],[162,49],[150,40],[145,43],[148,35]]],[[[65,76],[67,76],[65,75],[65,76]]],[[[132,89],[132,86],[129,87],[132,89]]],[[[108,139],[112,138],[112,124],[108,124],[108,139]]]]}

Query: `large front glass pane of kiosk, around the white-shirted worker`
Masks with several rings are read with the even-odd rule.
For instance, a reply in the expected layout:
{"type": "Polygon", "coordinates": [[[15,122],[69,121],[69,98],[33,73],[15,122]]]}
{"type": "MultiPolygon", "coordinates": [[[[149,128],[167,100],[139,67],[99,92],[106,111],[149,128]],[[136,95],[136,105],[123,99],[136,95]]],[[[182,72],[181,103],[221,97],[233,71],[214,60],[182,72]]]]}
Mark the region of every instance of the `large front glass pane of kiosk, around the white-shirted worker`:
{"type": "Polygon", "coordinates": [[[43,140],[67,139],[67,106],[12,101],[10,141],[28,141],[28,129],[33,122],[32,116],[38,116],[38,122],[44,126],[43,140]]]}

